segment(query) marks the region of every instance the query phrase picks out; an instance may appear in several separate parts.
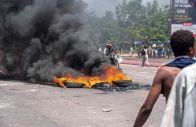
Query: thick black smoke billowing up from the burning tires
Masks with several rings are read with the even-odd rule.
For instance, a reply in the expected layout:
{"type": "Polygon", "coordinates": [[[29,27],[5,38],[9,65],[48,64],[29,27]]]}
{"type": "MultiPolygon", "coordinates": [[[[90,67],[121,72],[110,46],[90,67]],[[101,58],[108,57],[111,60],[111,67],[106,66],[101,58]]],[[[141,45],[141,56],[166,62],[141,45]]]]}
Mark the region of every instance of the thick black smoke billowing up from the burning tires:
{"type": "Polygon", "coordinates": [[[80,0],[0,0],[3,65],[38,81],[54,76],[97,76],[108,58],[94,53],[84,31],[80,0]]]}

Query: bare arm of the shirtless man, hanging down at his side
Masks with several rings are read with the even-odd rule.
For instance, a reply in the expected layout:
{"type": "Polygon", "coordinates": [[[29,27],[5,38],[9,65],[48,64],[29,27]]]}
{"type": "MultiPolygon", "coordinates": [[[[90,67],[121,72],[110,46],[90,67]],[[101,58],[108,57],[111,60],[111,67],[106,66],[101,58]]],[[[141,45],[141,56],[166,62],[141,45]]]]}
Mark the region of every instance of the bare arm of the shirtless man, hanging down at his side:
{"type": "Polygon", "coordinates": [[[140,111],[134,123],[134,127],[142,127],[143,124],[146,122],[147,118],[149,117],[152,108],[161,92],[163,76],[163,70],[162,68],[160,68],[154,77],[152,88],[146,98],[146,101],[140,108],[140,111]]]}

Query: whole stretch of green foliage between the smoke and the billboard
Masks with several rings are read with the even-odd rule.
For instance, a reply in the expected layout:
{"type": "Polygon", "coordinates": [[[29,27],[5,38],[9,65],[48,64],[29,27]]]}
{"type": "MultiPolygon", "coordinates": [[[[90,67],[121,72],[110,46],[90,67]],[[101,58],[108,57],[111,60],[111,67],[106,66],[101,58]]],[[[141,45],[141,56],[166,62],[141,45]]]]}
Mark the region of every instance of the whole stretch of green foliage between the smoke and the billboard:
{"type": "Polygon", "coordinates": [[[169,6],[159,8],[158,3],[141,4],[141,0],[123,1],[116,6],[116,18],[112,11],[105,16],[88,15],[88,33],[91,40],[99,45],[115,44],[117,41],[141,40],[167,41],[169,38],[169,6]]]}

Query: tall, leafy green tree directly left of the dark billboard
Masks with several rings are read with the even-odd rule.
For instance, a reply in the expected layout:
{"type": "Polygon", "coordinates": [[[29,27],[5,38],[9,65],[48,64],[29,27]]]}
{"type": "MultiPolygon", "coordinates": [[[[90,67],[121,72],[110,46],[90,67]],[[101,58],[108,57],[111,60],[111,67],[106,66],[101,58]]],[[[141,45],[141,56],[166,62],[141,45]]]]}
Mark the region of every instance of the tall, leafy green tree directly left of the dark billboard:
{"type": "Polygon", "coordinates": [[[140,0],[131,0],[116,7],[119,26],[126,29],[125,35],[131,41],[166,41],[169,34],[167,18],[169,11],[158,7],[158,3],[143,6],[140,0]]]}

